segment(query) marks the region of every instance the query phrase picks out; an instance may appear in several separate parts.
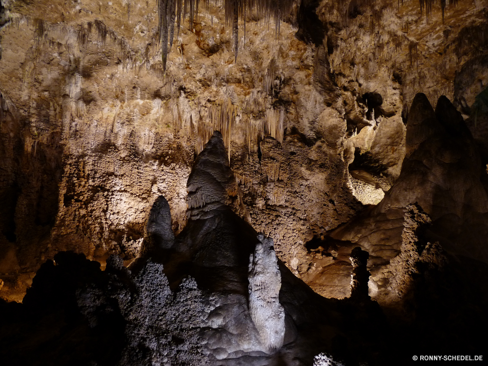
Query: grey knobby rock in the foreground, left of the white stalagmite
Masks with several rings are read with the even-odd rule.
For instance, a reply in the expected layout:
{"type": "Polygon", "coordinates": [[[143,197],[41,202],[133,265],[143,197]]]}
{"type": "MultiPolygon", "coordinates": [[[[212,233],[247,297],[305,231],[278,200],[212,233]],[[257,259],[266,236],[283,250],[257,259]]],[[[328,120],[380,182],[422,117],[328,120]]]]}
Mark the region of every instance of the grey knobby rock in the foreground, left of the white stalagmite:
{"type": "Polygon", "coordinates": [[[183,280],[173,294],[163,266],[148,262],[134,285],[131,302],[119,302],[127,320],[120,364],[207,365],[199,336],[203,300],[195,280],[183,280]]]}

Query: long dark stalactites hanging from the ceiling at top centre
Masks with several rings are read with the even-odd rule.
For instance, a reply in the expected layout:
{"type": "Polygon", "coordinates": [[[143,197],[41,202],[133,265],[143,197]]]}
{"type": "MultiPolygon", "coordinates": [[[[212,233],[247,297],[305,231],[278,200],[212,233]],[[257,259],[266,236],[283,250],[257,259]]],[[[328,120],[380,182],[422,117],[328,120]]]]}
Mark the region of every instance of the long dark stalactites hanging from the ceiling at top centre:
{"type": "MultiPolygon", "coordinates": [[[[239,52],[239,17],[245,22],[247,13],[256,12],[258,18],[269,23],[271,18],[276,24],[276,36],[279,36],[281,20],[290,13],[296,0],[203,0],[205,5],[209,2],[224,2],[225,22],[232,25],[234,39],[234,55],[237,61],[239,52]]],[[[166,70],[166,61],[173,45],[175,33],[175,20],[177,33],[180,32],[182,20],[188,16],[189,28],[193,29],[193,23],[198,15],[200,0],[158,0],[159,32],[161,40],[161,52],[163,70],[166,70]],[[169,43],[169,44],[168,44],[169,43]]]]}

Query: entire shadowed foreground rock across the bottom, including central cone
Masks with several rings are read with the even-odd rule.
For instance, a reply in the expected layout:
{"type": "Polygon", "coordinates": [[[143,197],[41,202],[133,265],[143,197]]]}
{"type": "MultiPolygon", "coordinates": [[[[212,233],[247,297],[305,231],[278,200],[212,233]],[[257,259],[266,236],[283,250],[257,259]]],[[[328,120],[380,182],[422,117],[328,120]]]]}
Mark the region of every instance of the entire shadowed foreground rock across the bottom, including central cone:
{"type": "MultiPolygon", "coordinates": [[[[466,262],[451,265],[441,244],[427,240],[432,222],[418,205],[405,209],[400,255],[383,267],[384,282],[374,294],[388,310],[388,324],[367,294],[368,254],[360,247],[348,251],[352,296],[325,299],[276,258],[269,238],[258,236],[235,207],[223,204],[232,200],[219,190],[222,181],[213,178],[228,177],[221,146],[222,137],[212,137],[190,173],[202,191],[219,192],[212,201],[219,205],[203,210],[205,218],[190,217],[174,236],[169,205],[158,198],[147,224],[149,241],[165,241],[143,252],[154,259],[139,257],[128,269],[122,258],[111,256],[101,271],[83,254],[60,252],[55,262],[42,264],[22,304],[1,301],[8,319],[0,325],[2,360],[12,365],[389,365],[394,355],[400,364],[410,360],[411,349],[482,349],[484,340],[468,330],[473,319],[487,324],[487,292],[478,293],[478,284],[467,280],[475,271],[485,279],[488,271],[476,264],[471,272],[460,272],[466,262]],[[199,168],[200,157],[219,154],[208,177],[199,168]],[[452,321],[443,323],[445,318],[452,321]]],[[[339,249],[341,242],[328,244],[339,249]]]]}

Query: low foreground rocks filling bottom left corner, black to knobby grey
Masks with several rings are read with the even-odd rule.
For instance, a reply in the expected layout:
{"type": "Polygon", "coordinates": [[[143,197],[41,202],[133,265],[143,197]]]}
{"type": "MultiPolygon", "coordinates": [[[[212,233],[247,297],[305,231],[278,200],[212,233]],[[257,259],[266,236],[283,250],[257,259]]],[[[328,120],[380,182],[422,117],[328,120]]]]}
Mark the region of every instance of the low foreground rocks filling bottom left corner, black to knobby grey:
{"type": "Polygon", "coordinates": [[[161,264],[147,262],[133,274],[120,257],[110,257],[103,272],[82,254],[55,260],[41,266],[22,306],[2,310],[20,316],[2,324],[7,364],[206,364],[194,280],[172,293],[161,264]]]}

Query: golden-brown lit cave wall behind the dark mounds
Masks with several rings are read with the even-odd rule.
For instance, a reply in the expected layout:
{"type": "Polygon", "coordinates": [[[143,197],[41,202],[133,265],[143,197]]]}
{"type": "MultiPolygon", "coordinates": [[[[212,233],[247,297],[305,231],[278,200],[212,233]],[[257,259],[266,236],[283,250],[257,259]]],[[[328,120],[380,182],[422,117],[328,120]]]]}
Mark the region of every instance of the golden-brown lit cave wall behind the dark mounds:
{"type": "Polygon", "coordinates": [[[130,263],[161,194],[178,233],[190,168],[219,129],[251,224],[295,275],[345,297],[347,246],[314,243],[396,182],[414,95],[446,95],[488,146],[468,118],[487,84],[486,1],[443,19],[415,1],[302,0],[279,37],[248,12],[237,59],[223,5],[200,6],[163,72],[155,0],[2,0],[2,296],[21,300],[59,250],[130,263]]]}

